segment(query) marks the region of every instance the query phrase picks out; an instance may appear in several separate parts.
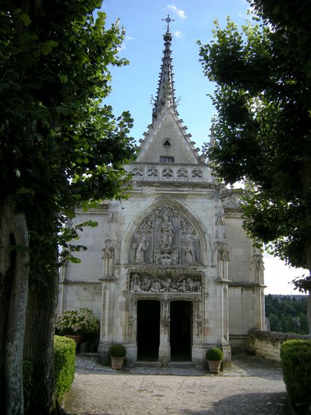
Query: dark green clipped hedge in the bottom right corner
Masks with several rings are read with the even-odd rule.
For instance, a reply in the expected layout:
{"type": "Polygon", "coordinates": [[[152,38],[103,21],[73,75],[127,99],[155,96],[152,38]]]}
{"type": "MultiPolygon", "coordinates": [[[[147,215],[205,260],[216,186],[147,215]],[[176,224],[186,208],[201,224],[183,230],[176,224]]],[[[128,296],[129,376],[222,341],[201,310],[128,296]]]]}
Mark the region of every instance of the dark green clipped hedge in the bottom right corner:
{"type": "Polygon", "coordinates": [[[311,349],[309,340],[287,340],[281,345],[283,378],[292,405],[311,403],[311,349]]]}

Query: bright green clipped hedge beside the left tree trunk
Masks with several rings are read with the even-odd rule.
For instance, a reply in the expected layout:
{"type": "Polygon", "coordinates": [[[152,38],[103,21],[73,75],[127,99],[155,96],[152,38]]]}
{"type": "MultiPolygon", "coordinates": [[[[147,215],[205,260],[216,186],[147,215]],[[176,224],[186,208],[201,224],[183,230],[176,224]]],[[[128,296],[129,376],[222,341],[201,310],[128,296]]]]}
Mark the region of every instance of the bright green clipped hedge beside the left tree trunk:
{"type": "Polygon", "coordinates": [[[61,402],[75,377],[75,342],[59,335],[54,338],[54,373],[55,393],[61,402]]]}

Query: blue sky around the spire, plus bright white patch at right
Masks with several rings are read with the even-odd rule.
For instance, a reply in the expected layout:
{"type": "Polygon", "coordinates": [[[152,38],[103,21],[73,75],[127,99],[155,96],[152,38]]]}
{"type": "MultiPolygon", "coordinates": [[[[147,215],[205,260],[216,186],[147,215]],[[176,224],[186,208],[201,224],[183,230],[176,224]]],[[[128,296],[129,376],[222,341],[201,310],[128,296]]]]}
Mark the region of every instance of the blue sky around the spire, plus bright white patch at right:
{"type": "MultiPolygon", "coordinates": [[[[120,19],[126,36],[120,56],[130,64],[112,68],[112,92],[105,101],[111,104],[115,115],[130,111],[134,119],[131,136],[143,137],[151,123],[151,95],[156,95],[163,51],[163,34],[169,13],[171,19],[173,71],[176,98],[180,98],[178,112],[187,125],[188,133],[197,147],[209,141],[211,118],[215,110],[207,94],[214,86],[202,73],[199,62],[198,40],[202,44],[212,39],[214,19],[225,26],[229,15],[242,25],[247,18],[246,0],[104,0],[102,10],[107,15],[107,27],[120,19]]],[[[290,294],[288,284],[301,270],[286,267],[278,259],[265,255],[265,293],[290,294]]]]}

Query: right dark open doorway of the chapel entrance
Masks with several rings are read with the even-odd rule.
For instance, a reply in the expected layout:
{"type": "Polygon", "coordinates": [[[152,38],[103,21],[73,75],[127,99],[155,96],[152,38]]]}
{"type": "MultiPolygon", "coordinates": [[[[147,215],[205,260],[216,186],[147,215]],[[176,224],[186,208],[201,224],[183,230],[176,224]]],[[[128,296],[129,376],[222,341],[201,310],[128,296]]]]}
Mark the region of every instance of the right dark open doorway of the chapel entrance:
{"type": "Polygon", "coordinates": [[[171,302],[171,360],[191,360],[192,344],[192,303],[189,301],[171,302]]]}

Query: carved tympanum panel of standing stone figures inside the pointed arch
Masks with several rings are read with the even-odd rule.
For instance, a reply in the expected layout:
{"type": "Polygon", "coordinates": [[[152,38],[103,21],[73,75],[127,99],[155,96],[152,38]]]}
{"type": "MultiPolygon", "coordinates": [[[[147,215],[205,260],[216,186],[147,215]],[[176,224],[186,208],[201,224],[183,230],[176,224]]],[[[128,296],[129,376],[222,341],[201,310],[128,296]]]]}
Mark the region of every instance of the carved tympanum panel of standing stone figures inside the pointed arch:
{"type": "Polygon", "coordinates": [[[198,232],[177,208],[169,205],[155,208],[135,230],[129,260],[133,264],[158,266],[200,265],[198,232]]]}

